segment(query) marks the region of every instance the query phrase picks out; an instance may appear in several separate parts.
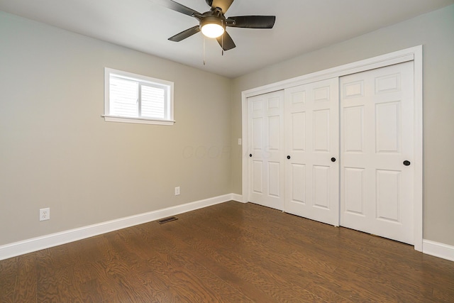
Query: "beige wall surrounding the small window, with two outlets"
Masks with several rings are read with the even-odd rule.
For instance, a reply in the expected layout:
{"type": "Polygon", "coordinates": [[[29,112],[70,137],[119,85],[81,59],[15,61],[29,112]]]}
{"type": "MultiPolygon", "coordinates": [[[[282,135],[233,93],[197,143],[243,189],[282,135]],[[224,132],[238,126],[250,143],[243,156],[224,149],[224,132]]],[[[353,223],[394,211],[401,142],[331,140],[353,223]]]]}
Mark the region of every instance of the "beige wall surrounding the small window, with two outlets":
{"type": "Polygon", "coordinates": [[[231,79],[0,12],[0,245],[230,194],[230,102],[231,79]],[[175,82],[175,126],[105,122],[104,67],[175,82]]]}

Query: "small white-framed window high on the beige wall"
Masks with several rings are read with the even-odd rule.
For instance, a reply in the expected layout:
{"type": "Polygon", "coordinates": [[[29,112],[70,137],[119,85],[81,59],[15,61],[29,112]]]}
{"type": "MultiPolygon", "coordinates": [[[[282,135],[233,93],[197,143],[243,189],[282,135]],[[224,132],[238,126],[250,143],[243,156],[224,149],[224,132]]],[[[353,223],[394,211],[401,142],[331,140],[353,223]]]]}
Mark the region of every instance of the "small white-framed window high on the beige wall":
{"type": "Polygon", "coordinates": [[[105,69],[105,121],[172,125],[173,82],[105,69]]]}

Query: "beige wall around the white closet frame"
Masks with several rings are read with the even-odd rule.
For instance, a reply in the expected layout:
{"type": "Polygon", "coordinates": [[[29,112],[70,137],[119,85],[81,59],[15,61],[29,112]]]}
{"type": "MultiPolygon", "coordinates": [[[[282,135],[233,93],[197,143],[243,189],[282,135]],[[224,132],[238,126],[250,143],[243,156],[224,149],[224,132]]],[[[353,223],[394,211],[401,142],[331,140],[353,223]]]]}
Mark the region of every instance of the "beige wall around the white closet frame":
{"type": "MultiPolygon", "coordinates": [[[[233,81],[233,192],[241,193],[243,90],[423,45],[423,238],[454,245],[454,6],[266,67],[233,81]]],[[[282,45],[285,47],[285,45],[282,45]]]]}

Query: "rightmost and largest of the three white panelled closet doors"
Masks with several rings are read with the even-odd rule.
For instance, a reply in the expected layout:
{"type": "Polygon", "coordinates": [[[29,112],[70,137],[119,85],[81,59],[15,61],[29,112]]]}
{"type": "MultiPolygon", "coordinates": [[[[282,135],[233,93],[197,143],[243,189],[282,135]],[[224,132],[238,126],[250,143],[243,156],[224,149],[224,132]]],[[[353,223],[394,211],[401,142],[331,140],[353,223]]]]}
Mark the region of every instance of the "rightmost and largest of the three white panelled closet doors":
{"type": "Polygon", "coordinates": [[[340,83],[341,226],[413,244],[413,62],[340,83]]]}

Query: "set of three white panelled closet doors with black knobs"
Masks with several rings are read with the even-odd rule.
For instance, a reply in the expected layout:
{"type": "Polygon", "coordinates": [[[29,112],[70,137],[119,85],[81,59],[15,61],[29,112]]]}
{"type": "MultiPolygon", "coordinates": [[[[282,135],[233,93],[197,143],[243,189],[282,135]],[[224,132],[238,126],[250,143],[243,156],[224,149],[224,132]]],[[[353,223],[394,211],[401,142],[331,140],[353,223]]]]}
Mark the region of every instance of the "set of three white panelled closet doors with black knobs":
{"type": "Polygon", "coordinates": [[[247,98],[248,201],[414,244],[414,62],[247,98]]]}

